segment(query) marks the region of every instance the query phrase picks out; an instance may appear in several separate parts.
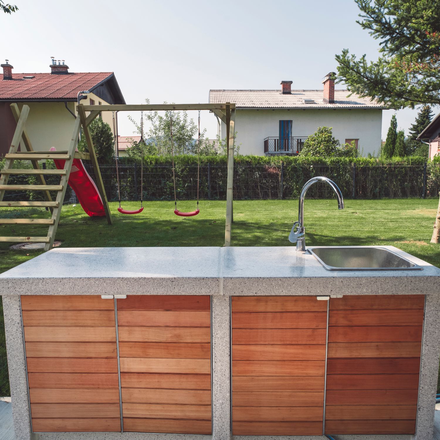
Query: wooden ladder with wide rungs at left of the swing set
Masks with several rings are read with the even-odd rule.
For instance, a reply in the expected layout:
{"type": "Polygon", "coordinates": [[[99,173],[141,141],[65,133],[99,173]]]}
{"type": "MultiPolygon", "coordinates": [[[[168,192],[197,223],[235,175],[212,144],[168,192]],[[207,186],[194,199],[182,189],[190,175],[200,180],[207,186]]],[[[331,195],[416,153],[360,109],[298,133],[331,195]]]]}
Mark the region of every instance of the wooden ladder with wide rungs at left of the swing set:
{"type": "Polygon", "coordinates": [[[11,104],[11,110],[14,114],[17,127],[14,137],[12,138],[9,153],[5,155],[6,161],[4,169],[0,170],[0,207],[45,207],[51,210],[50,219],[0,219],[0,224],[46,224],[49,226],[48,234],[45,237],[0,237],[0,242],[29,242],[44,243],[44,250],[49,250],[53,246],[56,230],[59,223],[61,208],[66,194],[67,183],[69,181],[70,170],[72,169],[74,158],[90,158],[87,153],[75,152],[78,143],[78,136],[81,130],[81,119],[77,117],[73,128],[72,139],[70,140],[69,149],[66,151],[34,151],[29,136],[26,133],[25,124],[29,114],[29,106],[23,105],[22,111],[18,109],[17,104],[11,104]],[[18,152],[18,146],[22,144],[26,147],[26,151],[18,152]],[[63,169],[41,169],[38,164],[42,159],[60,159],[64,160],[63,169]],[[32,163],[33,169],[14,169],[15,160],[28,160],[32,163]],[[11,174],[35,175],[38,180],[37,185],[8,185],[9,176],[11,174]],[[60,176],[58,185],[47,185],[44,175],[60,176]],[[3,196],[5,191],[43,191],[44,202],[16,201],[4,202],[3,196]],[[55,201],[52,200],[49,191],[57,191],[55,201]]]}

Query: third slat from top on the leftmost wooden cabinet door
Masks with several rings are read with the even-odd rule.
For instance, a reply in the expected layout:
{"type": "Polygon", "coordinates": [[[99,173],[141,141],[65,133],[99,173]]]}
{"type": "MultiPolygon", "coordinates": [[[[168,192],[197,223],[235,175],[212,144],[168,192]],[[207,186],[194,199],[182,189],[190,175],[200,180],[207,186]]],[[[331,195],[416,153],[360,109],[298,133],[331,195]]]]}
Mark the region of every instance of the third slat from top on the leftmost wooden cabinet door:
{"type": "Polygon", "coordinates": [[[115,327],[25,326],[24,329],[26,342],[116,342],[115,327]]]}

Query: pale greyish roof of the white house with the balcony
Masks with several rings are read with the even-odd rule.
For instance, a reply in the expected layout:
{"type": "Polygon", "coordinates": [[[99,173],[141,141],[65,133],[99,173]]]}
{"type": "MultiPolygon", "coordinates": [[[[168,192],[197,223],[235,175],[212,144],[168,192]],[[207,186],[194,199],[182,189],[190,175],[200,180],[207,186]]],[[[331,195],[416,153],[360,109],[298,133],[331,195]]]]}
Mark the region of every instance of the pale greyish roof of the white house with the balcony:
{"type": "Polygon", "coordinates": [[[387,107],[370,98],[360,98],[356,94],[348,95],[348,90],[334,91],[334,104],[323,101],[323,90],[292,90],[291,95],[281,90],[210,90],[209,103],[235,103],[238,108],[377,108],[387,107]],[[312,99],[314,103],[304,103],[312,99]]]}

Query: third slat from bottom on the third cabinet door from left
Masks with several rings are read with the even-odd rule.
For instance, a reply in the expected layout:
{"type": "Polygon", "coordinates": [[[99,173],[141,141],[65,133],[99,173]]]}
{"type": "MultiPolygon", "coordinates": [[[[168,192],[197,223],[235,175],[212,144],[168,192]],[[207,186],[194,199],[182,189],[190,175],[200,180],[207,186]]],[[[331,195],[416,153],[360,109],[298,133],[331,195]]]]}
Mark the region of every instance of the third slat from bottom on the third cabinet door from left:
{"type": "Polygon", "coordinates": [[[234,407],[322,407],[323,404],[324,391],[235,391],[232,395],[234,407]]]}

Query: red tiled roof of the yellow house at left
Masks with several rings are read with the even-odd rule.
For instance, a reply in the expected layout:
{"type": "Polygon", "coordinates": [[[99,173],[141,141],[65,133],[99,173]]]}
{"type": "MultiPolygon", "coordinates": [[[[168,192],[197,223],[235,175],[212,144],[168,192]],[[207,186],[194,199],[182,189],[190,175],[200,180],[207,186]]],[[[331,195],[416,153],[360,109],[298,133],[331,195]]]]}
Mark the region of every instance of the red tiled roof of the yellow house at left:
{"type": "Polygon", "coordinates": [[[112,77],[112,72],[95,73],[13,73],[11,80],[0,81],[0,100],[35,99],[76,101],[78,92],[91,90],[112,77]],[[34,77],[24,79],[23,77],[34,77]]]}

